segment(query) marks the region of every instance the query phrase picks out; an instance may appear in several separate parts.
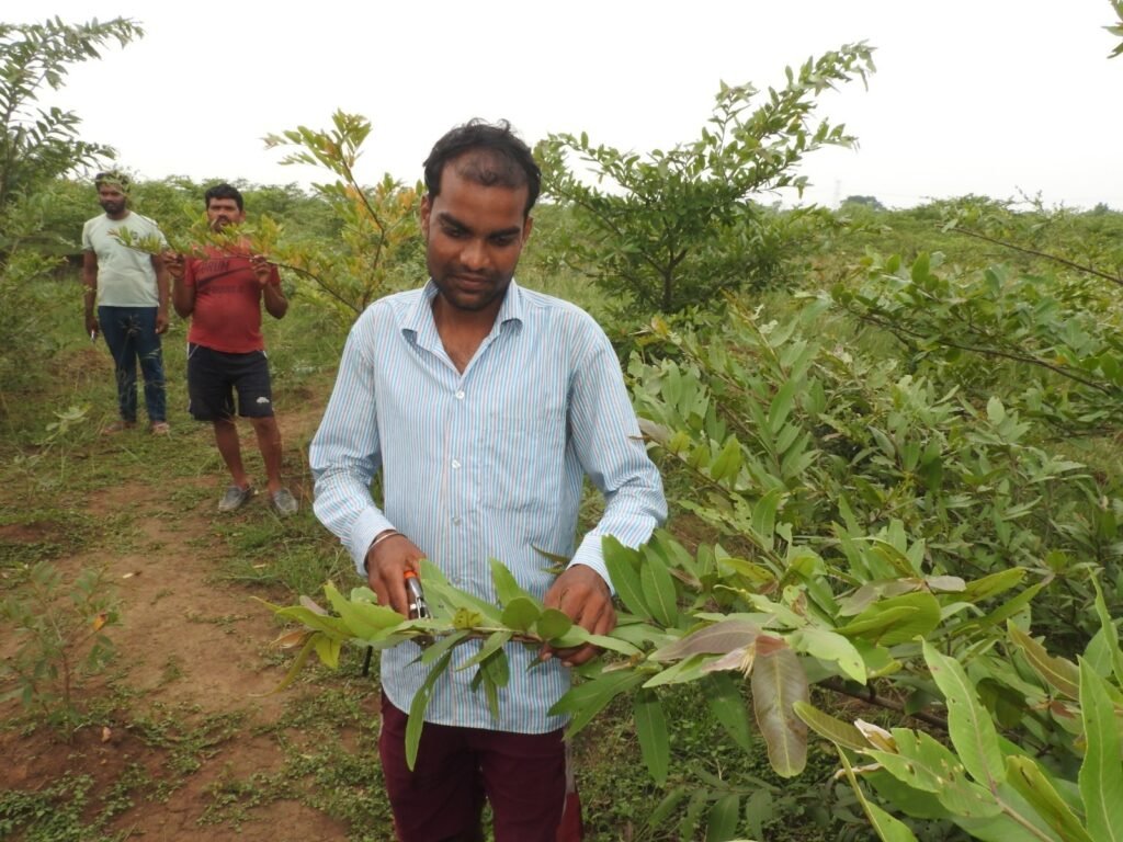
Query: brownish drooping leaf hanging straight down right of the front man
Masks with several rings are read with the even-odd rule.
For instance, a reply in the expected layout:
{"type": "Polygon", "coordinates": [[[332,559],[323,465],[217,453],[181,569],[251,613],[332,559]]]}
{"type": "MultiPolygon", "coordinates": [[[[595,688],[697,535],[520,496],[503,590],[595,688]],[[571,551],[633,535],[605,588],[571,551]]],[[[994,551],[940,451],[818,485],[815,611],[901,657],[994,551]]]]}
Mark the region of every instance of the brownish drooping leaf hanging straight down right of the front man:
{"type": "Polygon", "coordinates": [[[807,677],[795,652],[779,638],[760,635],[752,666],[752,707],[777,775],[791,778],[807,761],[807,727],[795,715],[796,702],[807,701],[807,677]]]}

